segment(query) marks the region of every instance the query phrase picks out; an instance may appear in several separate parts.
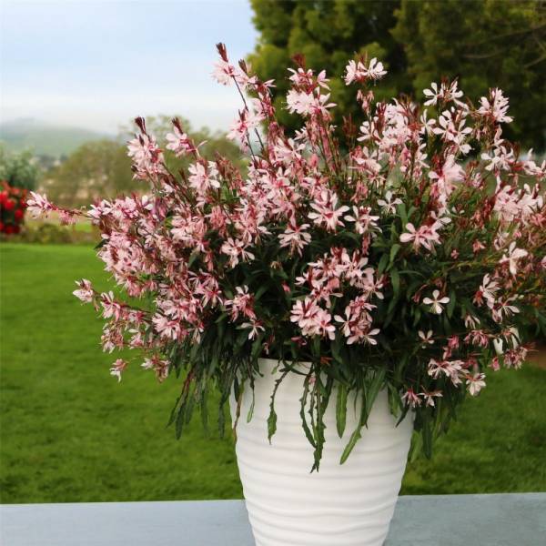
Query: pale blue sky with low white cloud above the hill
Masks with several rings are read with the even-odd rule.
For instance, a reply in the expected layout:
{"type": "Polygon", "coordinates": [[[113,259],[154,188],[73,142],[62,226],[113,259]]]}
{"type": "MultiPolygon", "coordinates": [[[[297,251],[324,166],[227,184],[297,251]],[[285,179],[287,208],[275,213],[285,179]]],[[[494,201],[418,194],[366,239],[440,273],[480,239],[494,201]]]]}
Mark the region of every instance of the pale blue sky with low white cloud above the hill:
{"type": "Polygon", "coordinates": [[[237,90],[210,76],[215,45],[251,52],[248,0],[0,0],[0,121],[116,133],[135,116],[225,130],[237,90]]]}

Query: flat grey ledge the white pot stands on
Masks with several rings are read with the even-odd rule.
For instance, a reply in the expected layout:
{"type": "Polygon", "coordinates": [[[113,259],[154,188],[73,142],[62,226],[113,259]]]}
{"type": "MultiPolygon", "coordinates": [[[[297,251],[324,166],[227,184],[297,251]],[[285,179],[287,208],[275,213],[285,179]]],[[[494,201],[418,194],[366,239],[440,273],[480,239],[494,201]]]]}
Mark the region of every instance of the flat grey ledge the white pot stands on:
{"type": "MultiPolygon", "coordinates": [[[[385,546],[540,546],[544,537],[546,493],[406,496],[385,546]]],[[[254,546],[243,501],[5,504],[0,543],[254,546]]]]}

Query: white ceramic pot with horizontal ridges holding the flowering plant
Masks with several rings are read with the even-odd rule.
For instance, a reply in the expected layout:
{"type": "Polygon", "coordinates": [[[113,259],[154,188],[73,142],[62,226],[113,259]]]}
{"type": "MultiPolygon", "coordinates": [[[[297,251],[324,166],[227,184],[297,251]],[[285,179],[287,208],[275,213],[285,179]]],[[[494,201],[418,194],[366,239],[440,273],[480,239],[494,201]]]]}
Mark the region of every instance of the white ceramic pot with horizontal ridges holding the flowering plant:
{"type": "MultiPolygon", "coordinates": [[[[264,377],[255,383],[255,406],[245,389],[237,426],[237,460],[248,517],[257,546],[381,546],[389,531],[404,470],[413,423],[395,427],[388,398],[380,392],[368,428],[339,464],[358,418],[349,398],[342,439],[336,430],[336,398],[325,416],[326,444],[319,472],[310,473],[313,449],[301,428],[299,399],[303,378],[289,373],[275,399],[277,432],[268,442],[269,401],[276,360],[260,359],[264,377]]],[[[235,401],[231,400],[232,417],[235,401]]]]}

